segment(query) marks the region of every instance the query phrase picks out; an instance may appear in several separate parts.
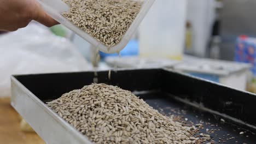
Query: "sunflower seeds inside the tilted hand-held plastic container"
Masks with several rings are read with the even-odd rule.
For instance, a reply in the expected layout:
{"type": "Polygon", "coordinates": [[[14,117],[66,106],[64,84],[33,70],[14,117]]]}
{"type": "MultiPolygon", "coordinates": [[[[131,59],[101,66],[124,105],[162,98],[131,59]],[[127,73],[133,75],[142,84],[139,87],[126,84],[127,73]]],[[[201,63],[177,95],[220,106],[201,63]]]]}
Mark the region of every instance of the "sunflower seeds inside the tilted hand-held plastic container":
{"type": "Polygon", "coordinates": [[[71,9],[62,15],[112,47],[120,42],[141,9],[141,0],[63,0],[71,9]]]}

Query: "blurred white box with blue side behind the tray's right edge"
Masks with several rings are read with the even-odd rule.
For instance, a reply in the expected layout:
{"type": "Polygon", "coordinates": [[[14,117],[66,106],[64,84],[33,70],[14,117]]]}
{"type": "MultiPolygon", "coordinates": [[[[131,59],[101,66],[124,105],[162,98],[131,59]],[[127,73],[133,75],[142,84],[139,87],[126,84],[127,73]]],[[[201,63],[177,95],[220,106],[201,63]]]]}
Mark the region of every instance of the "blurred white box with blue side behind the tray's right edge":
{"type": "Polygon", "coordinates": [[[183,62],[174,66],[174,70],[200,77],[223,85],[246,90],[250,64],[219,61],[206,58],[184,56],[183,62]]]}

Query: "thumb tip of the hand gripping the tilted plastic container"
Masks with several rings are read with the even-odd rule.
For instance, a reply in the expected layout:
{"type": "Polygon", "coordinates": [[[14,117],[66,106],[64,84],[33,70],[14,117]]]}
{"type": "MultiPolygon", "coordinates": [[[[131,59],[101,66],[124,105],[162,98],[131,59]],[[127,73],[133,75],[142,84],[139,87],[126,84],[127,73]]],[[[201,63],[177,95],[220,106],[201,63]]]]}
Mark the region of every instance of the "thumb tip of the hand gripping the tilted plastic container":
{"type": "Polygon", "coordinates": [[[36,16],[34,17],[34,20],[38,21],[39,23],[42,23],[47,27],[59,24],[59,22],[55,21],[48,14],[46,14],[45,11],[39,6],[39,4],[37,4],[37,12],[36,16]]]}

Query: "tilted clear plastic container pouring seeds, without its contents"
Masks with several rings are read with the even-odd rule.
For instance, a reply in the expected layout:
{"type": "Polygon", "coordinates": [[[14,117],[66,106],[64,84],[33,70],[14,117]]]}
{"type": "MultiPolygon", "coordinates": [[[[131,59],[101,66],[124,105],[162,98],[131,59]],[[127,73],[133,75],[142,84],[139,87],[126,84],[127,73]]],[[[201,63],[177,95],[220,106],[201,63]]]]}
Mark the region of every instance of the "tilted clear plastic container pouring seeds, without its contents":
{"type": "Polygon", "coordinates": [[[124,37],[121,39],[120,43],[117,45],[110,47],[110,50],[108,51],[108,47],[106,45],[103,45],[100,43],[100,41],[96,40],[94,37],[92,37],[90,34],[84,32],[79,27],[73,25],[70,21],[68,21],[65,17],[63,17],[61,14],[63,12],[66,12],[69,10],[69,6],[62,2],[61,0],[37,0],[42,8],[48,13],[53,19],[60,22],[62,25],[66,26],[67,28],[71,29],[73,32],[77,33],[88,41],[90,44],[92,44],[96,49],[105,52],[105,53],[115,53],[119,52],[127,45],[129,40],[131,39],[133,33],[136,32],[137,27],[139,26],[139,23],[143,20],[143,18],[148,13],[148,10],[153,5],[155,0],[144,0],[144,3],[141,7],[141,11],[139,11],[137,17],[132,22],[130,28],[127,30],[127,32],[124,34],[124,37]]]}

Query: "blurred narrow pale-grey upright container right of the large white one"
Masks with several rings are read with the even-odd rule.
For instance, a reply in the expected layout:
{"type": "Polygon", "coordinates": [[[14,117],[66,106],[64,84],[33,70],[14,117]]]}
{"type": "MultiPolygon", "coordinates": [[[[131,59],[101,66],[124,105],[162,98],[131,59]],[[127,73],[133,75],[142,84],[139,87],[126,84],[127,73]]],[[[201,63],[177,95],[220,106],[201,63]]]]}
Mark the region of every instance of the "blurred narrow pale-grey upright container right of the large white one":
{"type": "Polygon", "coordinates": [[[206,49],[211,38],[212,26],[216,18],[215,0],[188,0],[187,21],[191,24],[191,54],[206,56],[206,49]]]}

